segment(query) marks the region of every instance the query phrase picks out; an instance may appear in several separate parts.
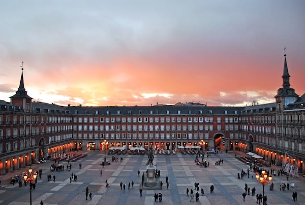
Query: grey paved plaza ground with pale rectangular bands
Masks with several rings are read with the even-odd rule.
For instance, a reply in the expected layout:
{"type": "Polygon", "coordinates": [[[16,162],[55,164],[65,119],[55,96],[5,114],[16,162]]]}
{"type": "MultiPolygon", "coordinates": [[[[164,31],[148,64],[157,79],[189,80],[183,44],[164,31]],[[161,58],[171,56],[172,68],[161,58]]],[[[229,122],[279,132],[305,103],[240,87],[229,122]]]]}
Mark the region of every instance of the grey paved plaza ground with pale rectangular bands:
{"type": "MultiPolygon", "coordinates": [[[[102,168],[100,165],[104,161],[104,153],[99,151],[87,151],[87,157],[72,162],[72,170],[51,172],[50,165],[53,162],[47,162],[40,165],[33,165],[34,170],[42,169],[42,178],[38,179],[35,190],[32,190],[32,204],[40,204],[42,200],[46,204],[154,204],[154,194],[162,193],[164,204],[256,204],[256,197],[246,196],[242,199],[242,193],[245,183],[252,189],[256,188],[256,193],[263,192],[263,186],[256,181],[255,173],[250,172],[250,177],[237,179],[237,172],[241,169],[247,170],[248,166],[237,159],[237,155],[244,155],[241,152],[219,153],[207,158],[208,168],[202,168],[195,164],[195,155],[155,155],[154,163],[161,172],[160,181],[163,182],[162,190],[143,190],[142,197],[139,195],[139,186],[141,177],[138,177],[137,171],[140,170],[140,176],[146,172],[147,155],[121,155],[116,156],[119,159],[123,157],[122,162],[114,162],[109,166],[102,168]],[[223,159],[223,164],[216,166],[215,163],[223,159]],[[79,163],[82,168],[79,168],[79,163]],[[100,171],[103,171],[101,176],[100,171]],[[70,183],[71,173],[76,174],[77,182],[70,183]],[[55,182],[48,182],[47,175],[56,176],[55,182]],[[169,188],[166,189],[165,177],[169,178],[169,188]],[[253,176],[253,177],[252,177],[253,176]],[[105,181],[108,180],[110,187],[106,188],[105,181]],[[134,188],[128,190],[128,183],[134,182],[134,188]],[[120,190],[119,184],[126,184],[126,190],[120,190]],[[190,197],[186,195],[186,189],[194,190],[194,183],[199,183],[199,189],[204,189],[204,195],[199,197],[199,201],[190,202],[190,197]],[[214,193],[209,192],[211,185],[214,185],[214,193]],[[88,187],[92,192],[92,200],[85,200],[85,189],[88,187]]],[[[111,156],[106,156],[107,160],[111,156]]],[[[60,162],[61,163],[61,162],[60,162]]],[[[63,162],[65,166],[67,162],[63,162]]],[[[27,168],[0,176],[0,203],[1,204],[24,204],[30,202],[29,186],[19,187],[10,184],[10,177],[22,173],[27,168]]],[[[272,167],[279,169],[280,167],[272,167]]],[[[270,168],[267,168],[270,169],[270,168]]],[[[270,191],[269,185],[265,186],[267,195],[267,204],[305,204],[305,178],[289,179],[289,183],[295,183],[294,188],[280,191],[279,186],[286,183],[286,176],[273,176],[275,190],[270,191]],[[292,200],[292,192],[297,192],[297,201],[292,200]]],[[[194,193],[196,193],[195,191],[194,193]]]]}

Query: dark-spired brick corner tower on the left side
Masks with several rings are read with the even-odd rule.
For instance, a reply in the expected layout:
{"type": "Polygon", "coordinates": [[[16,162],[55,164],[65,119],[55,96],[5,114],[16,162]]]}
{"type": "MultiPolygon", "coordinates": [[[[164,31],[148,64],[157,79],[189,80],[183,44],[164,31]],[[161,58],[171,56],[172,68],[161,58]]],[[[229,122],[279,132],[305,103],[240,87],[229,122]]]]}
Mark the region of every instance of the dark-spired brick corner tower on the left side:
{"type": "Polygon", "coordinates": [[[11,104],[12,105],[18,105],[21,106],[22,110],[24,112],[30,112],[31,111],[31,105],[32,105],[32,97],[27,95],[27,91],[25,91],[24,83],[23,83],[23,62],[21,66],[21,79],[19,88],[16,91],[16,94],[10,97],[11,98],[11,104]]]}

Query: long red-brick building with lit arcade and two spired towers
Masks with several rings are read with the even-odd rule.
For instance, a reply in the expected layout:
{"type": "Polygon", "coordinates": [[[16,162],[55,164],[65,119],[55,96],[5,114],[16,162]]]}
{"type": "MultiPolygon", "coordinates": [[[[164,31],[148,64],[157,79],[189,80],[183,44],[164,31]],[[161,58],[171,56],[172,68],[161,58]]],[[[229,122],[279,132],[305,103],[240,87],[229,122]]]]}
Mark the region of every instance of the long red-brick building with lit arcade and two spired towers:
{"type": "Polygon", "coordinates": [[[22,70],[11,101],[0,100],[0,175],[72,150],[150,146],[251,151],[277,165],[291,161],[304,172],[305,94],[297,95],[289,78],[285,55],[283,85],[270,104],[85,107],[32,101],[22,70]]]}

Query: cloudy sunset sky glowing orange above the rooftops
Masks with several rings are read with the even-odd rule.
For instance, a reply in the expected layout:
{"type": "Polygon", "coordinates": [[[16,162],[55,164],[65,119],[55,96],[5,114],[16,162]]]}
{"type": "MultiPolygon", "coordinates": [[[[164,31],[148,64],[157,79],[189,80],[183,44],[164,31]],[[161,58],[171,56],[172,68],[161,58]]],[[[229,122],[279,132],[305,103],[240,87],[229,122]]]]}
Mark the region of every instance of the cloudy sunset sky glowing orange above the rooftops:
{"type": "Polygon", "coordinates": [[[275,102],[284,47],[305,93],[305,1],[0,1],[0,99],[150,106],[275,102]]]}

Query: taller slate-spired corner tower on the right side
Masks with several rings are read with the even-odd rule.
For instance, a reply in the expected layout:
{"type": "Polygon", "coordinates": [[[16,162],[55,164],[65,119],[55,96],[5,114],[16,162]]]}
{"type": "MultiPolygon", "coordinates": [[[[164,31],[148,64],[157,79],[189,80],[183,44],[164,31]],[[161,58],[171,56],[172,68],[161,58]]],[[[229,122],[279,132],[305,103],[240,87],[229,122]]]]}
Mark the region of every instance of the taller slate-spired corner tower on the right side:
{"type": "Polygon", "coordinates": [[[286,61],[286,54],[284,55],[284,71],[282,75],[283,87],[278,89],[278,94],[275,96],[277,102],[277,112],[281,112],[288,108],[289,104],[293,104],[297,99],[298,95],[294,92],[293,88],[290,88],[290,75],[288,72],[288,66],[286,61]]]}

